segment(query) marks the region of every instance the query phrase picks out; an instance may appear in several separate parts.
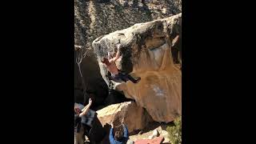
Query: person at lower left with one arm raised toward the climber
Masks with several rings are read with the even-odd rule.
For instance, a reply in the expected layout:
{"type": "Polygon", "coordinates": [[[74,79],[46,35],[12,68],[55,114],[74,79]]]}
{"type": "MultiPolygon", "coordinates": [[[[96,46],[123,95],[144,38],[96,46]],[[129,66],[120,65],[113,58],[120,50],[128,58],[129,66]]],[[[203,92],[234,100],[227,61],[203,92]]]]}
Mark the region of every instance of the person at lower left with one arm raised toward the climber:
{"type": "Polygon", "coordinates": [[[84,126],[81,125],[82,117],[84,117],[91,105],[92,101],[89,99],[89,104],[84,108],[79,108],[79,106],[74,106],[74,144],[84,144],[85,142],[85,130],[84,126]]]}

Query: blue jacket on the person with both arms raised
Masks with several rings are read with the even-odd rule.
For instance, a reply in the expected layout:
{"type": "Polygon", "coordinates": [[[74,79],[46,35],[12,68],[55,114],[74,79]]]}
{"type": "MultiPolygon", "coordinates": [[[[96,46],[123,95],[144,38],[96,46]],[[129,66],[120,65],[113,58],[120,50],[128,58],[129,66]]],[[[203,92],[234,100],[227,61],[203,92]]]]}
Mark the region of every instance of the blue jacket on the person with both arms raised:
{"type": "Polygon", "coordinates": [[[113,128],[110,129],[110,144],[126,144],[128,141],[129,135],[128,135],[128,129],[126,125],[123,126],[123,138],[120,141],[117,141],[114,139],[114,134],[113,134],[113,128]]]}

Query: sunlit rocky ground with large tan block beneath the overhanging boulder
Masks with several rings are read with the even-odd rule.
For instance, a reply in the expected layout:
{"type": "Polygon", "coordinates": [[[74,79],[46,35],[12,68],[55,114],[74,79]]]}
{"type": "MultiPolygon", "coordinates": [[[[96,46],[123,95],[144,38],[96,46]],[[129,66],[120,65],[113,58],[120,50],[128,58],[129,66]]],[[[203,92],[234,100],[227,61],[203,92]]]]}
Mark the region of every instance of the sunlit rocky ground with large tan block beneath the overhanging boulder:
{"type": "MultiPolygon", "coordinates": [[[[128,127],[130,132],[130,140],[136,142],[139,139],[152,139],[158,130],[156,136],[162,136],[164,138],[163,143],[170,143],[168,138],[167,126],[173,126],[173,122],[153,122],[149,120],[146,111],[136,105],[135,102],[122,102],[114,105],[107,106],[102,110],[98,110],[98,119],[105,127],[105,130],[109,132],[110,123],[113,122],[114,126],[119,126],[120,122],[118,118],[124,118],[123,123],[128,127]],[[129,111],[129,113],[126,113],[129,111]]],[[[109,143],[108,135],[102,141],[102,144],[109,143]]]]}

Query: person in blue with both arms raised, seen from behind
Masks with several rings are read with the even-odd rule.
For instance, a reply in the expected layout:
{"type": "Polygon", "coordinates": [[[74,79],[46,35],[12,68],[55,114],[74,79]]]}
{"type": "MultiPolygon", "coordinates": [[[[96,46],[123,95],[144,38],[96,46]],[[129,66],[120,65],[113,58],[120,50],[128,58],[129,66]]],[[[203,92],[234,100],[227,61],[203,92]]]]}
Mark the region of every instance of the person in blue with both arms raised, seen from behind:
{"type": "Polygon", "coordinates": [[[122,124],[123,132],[122,131],[116,131],[113,134],[113,123],[111,124],[111,129],[110,129],[110,144],[126,144],[128,141],[129,135],[128,135],[128,129],[127,126],[122,124]]]}

